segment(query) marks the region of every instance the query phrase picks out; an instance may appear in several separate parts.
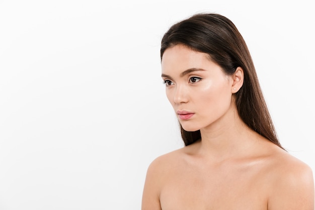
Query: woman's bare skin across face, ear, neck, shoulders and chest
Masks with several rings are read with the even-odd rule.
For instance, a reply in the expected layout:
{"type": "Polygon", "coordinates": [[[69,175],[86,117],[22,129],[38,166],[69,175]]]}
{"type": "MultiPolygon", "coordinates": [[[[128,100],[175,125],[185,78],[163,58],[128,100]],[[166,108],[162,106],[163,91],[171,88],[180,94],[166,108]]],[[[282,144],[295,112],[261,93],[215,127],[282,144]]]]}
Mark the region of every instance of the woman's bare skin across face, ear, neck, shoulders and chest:
{"type": "Polygon", "coordinates": [[[200,129],[202,140],[151,163],[142,210],[313,210],[311,169],[239,117],[233,93],[242,87],[242,68],[229,77],[218,69],[182,45],[165,51],[168,99],[175,112],[193,113],[179,121],[186,130],[200,129]],[[205,71],[183,76],[191,68],[205,71]]]}

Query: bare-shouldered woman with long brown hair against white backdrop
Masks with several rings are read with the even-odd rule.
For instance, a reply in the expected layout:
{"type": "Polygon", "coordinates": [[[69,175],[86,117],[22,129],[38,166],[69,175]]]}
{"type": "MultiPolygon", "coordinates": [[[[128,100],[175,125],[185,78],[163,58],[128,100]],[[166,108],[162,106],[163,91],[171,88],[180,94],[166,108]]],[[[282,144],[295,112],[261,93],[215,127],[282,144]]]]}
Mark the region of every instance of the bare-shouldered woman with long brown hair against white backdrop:
{"type": "Polygon", "coordinates": [[[311,169],[280,145],[243,37],[197,14],[161,46],[162,79],[184,148],[149,166],[142,210],[313,210],[311,169]]]}

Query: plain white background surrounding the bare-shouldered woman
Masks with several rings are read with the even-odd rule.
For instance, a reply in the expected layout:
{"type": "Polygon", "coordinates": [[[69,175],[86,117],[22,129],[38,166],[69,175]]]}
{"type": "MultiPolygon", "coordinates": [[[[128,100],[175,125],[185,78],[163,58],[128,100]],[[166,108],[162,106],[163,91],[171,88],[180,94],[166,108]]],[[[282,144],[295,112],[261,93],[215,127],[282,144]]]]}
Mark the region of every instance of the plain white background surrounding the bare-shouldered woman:
{"type": "Polygon", "coordinates": [[[311,1],[0,1],[0,209],[140,209],[183,146],[160,42],[215,12],[252,53],[280,142],[315,170],[311,1]]]}

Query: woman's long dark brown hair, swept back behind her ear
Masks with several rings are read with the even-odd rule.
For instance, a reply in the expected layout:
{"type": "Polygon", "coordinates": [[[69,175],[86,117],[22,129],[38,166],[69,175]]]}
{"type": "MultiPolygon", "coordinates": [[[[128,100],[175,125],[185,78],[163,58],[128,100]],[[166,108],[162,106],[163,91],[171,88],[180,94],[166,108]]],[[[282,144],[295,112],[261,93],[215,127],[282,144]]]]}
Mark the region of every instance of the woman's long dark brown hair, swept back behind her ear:
{"type": "MultiPolygon", "coordinates": [[[[239,30],[229,19],[219,14],[196,14],[174,24],[162,38],[161,60],[165,50],[176,44],[207,53],[227,75],[232,75],[237,67],[242,67],[244,84],[234,94],[239,115],[251,129],[282,148],[248,47],[239,30]]],[[[201,138],[200,130],[186,131],[180,127],[186,146],[201,138]]]]}

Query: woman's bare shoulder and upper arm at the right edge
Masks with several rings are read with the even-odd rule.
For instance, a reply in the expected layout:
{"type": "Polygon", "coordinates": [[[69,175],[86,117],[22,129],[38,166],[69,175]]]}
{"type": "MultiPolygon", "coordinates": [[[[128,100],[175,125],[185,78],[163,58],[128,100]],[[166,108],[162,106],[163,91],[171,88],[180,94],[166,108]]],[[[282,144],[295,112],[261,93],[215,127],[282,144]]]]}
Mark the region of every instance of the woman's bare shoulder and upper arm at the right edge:
{"type": "Polygon", "coordinates": [[[273,149],[268,169],[268,209],[314,209],[314,179],[311,168],[281,149],[273,149]]]}

